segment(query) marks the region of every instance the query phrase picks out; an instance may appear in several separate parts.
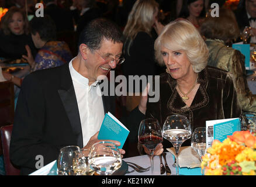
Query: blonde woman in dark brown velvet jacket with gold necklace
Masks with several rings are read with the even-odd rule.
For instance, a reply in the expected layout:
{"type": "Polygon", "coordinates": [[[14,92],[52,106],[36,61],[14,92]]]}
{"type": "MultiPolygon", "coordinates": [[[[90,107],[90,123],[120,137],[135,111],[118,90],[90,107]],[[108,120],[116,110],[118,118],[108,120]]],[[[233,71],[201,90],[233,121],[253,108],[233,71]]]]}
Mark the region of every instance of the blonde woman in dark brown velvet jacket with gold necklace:
{"type": "MultiPolygon", "coordinates": [[[[160,75],[160,99],[147,103],[146,117],[158,119],[162,126],[168,116],[184,115],[192,131],[205,127],[206,120],[240,117],[231,75],[207,66],[209,51],[190,22],[169,23],[155,40],[154,49],[158,63],[167,70],[160,75]]],[[[190,141],[182,146],[190,146],[190,141]]],[[[163,144],[164,148],[171,147],[167,140],[163,144]]]]}

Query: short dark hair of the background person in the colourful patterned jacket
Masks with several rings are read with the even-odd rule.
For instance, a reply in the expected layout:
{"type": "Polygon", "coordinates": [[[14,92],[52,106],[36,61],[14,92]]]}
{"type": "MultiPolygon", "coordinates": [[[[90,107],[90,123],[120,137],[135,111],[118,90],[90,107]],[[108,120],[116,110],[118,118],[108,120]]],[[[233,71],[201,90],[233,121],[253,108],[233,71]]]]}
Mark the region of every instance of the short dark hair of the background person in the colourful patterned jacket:
{"type": "Polygon", "coordinates": [[[44,15],[44,17],[34,17],[29,22],[30,32],[34,35],[39,33],[41,40],[50,41],[56,40],[56,25],[53,19],[48,15],[44,15]]]}

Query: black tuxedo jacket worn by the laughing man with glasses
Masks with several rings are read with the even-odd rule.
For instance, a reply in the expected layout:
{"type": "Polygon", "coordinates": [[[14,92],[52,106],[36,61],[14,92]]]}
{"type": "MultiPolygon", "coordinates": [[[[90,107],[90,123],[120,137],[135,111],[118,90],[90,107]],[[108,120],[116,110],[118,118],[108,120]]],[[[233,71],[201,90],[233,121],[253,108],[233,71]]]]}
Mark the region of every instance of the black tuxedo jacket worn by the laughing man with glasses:
{"type": "MultiPolygon", "coordinates": [[[[82,147],[82,129],[77,99],[68,64],[35,71],[23,80],[15,111],[10,143],[10,158],[20,174],[36,170],[37,155],[43,165],[57,159],[60,148],[82,147]]],[[[102,96],[105,112],[115,114],[115,97],[102,96]]],[[[144,115],[138,109],[122,121],[130,129],[130,141],[136,141],[144,115]]],[[[127,140],[129,144],[129,140],[127,140]]]]}

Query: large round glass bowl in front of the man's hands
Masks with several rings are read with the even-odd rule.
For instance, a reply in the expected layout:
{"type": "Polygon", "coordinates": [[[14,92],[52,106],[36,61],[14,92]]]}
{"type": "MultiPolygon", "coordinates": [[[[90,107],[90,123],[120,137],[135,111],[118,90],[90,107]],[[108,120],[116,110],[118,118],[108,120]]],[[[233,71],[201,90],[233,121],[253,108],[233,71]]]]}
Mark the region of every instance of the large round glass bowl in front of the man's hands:
{"type": "Polygon", "coordinates": [[[122,165],[122,158],[116,144],[99,141],[89,152],[89,165],[99,175],[112,175],[122,165]]]}

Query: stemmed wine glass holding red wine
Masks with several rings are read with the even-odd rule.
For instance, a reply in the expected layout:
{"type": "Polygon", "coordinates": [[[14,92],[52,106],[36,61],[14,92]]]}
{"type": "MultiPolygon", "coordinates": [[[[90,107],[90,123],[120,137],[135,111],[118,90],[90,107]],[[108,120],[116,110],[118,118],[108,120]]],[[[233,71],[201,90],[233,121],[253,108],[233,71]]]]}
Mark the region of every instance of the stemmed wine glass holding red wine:
{"type": "Polygon", "coordinates": [[[150,154],[151,174],[154,174],[154,150],[162,142],[162,129],[157,119],[144,119],[140,122],[139,142],[150,154]]]}

